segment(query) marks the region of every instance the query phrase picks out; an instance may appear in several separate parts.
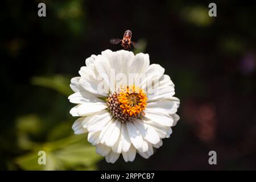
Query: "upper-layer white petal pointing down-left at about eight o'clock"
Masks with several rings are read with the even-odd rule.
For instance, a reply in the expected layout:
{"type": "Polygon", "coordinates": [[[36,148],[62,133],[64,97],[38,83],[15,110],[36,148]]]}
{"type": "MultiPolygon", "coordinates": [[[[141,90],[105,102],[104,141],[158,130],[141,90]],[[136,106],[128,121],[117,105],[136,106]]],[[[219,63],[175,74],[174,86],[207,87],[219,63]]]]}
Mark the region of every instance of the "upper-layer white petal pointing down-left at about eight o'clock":
{"type": "Polygon", "coordinates": [[[112,119],[112,115],[108,110],[101,110],[100,112],[93,114],[93,116],[88,117],[82,125],[86,127],[89,132],[101,131],[112,119]]]}

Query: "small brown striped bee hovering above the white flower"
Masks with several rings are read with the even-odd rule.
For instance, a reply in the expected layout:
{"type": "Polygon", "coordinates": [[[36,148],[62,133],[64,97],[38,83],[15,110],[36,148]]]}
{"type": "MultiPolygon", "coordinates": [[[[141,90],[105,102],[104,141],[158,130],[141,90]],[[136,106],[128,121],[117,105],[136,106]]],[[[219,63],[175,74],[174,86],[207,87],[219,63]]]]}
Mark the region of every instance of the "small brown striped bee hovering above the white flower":
{"type": "Polygon", "coordinates": [[[133,44],[133,47],[135,47],[135,48],[141,48],[141,46],[138,43],[131,41],[131,31],[130,30],[125,31],[125,34],[123,34],[123,39],[110,39],[110,43],[112,43],[112,44],[118,44],[120,42],[122,42],[121,46],[124,49],[130,49],[131,44],[133,44]]]}

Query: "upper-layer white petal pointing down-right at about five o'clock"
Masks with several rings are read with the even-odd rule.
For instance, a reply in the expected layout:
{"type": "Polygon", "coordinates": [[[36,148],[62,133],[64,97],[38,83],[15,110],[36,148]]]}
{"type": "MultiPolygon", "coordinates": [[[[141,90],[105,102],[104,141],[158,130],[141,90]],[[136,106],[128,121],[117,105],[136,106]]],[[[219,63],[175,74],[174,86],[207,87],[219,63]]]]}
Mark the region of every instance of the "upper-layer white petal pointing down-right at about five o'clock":
{"type": "Polygon", "coordinates": [[[146,125],[146,123],[143,123],[141,119],[135,119],[134,125],[137,126],[142,137],[144,137],[148,142],[156,144],[160,141],[159,135],[156,133],[155,129],[146,125]]]}

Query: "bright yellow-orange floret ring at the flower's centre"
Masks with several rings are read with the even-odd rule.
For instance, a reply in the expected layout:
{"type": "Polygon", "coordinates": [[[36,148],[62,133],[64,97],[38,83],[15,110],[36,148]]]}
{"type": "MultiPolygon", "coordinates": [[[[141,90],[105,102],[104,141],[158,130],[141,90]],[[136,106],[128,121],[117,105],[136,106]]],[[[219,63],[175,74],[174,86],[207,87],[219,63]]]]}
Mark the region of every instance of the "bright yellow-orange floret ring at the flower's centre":
{"type": "Polygon", "coordinates": [[[139,114],[143,114],[143,110],[147,105],[146,101],[147,96],[144,90],[135,86],[121,88],[119,92],[118,102],[120,108],[123,110],[123,114],[127,114],[130,117],[138,117],[139,114]]]}

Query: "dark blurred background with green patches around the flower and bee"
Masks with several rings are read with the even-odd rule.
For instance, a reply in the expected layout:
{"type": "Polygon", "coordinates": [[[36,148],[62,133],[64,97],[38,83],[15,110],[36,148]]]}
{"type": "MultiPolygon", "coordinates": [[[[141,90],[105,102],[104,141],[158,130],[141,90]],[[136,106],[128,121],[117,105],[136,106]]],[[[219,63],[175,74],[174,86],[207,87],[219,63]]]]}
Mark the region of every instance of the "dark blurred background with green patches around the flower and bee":
{"type": "Polygon", "coordinates": [[[0,169],[256,169],[255,1],[9,0],[0,12],[0,169]],[[90,55],[121,49],[109,39],[127,29],[142,44],[133,51],[171,76],[181,119],[150,159],[108,164],[73,134],[69,82],[90,55]]]}

